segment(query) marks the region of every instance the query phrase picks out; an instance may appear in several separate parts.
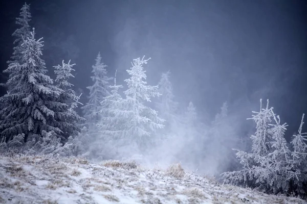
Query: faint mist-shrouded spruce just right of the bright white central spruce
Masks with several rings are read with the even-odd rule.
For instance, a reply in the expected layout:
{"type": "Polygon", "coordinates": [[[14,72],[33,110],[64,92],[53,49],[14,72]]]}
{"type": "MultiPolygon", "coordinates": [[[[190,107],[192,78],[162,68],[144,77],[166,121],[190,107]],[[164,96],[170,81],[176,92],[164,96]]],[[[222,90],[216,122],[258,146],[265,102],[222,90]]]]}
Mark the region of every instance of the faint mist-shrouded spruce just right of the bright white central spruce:
{"type": "Polygon", "coordinates": [[[159,102],[157,103],[157,109],[161,117],[166,120],[166,123],[173,122],[178,107],[178,103],[174,101],[169,75],[170,71],[162,73],[158,90],[161,96],[159,96],[159,102]]]}

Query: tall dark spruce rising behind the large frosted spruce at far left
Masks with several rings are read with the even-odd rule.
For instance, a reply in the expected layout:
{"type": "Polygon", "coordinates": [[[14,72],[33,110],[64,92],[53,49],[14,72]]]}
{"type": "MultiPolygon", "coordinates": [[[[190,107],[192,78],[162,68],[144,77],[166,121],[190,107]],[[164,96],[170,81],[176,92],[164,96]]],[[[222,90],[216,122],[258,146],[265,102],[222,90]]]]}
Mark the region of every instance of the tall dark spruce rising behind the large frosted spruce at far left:
{"type": "MultiPolygon", "coordinates": [[[[13,47],[13,55],[11,57],[11,61],[8,61],[8,64],[24,63],[23,52],[25,47],[22,46],[22,44],[24,43],[24,39],[28,39],[28,37],[30,37],[30,32],[31,32],[31,28],[29,25],[30,20],[31,20],[30,5],[25,3],[23,7],[20,9],[19,17],[16,18],[16,24],[19,25],[19,28],[16,29],[12,34],[12,36],[15,39],[13,42],[15,47],[13,47]]],[[[13,70],[7,71],[6,73],[9,74],[9,78],[13,78],[15,74],[13,70]]],[[[8,86],[7,84],[5,85],[8,91],[11,91],[16,84],[11,84],[10,86],[8,86]]]]}

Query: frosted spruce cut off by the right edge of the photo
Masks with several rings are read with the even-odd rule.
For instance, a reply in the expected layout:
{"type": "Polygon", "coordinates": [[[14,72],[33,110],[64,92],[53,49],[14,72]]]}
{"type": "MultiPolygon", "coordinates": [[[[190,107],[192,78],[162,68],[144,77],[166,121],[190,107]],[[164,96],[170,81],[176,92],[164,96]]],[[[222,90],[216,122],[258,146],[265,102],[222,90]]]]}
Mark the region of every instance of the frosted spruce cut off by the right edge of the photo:
{"type": "Polygon", "coordinates": [[[304,124],[304,114],[299,125],[298,134],[293,135],[291,144],[292,151],[292,171],[289,174],[289,180],[292,182],[292,188],[298,194],[307,196],[307,133],[302,133],[304,124]]]}

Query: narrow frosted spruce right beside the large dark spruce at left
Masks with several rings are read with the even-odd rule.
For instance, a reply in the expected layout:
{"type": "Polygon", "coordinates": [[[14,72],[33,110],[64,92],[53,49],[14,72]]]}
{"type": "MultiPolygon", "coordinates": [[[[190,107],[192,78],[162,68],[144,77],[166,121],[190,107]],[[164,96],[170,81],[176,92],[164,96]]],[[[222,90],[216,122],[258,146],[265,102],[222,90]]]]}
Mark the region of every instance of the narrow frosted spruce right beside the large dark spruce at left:
{"type": "Polygon", "coordinates": [[[56,74],[55,82],[57,83],[56,87],[59,88],[61,92],[56,101],[64,105],[61,106],[62,110],[58,110],[54,114],[54,126],[60,128],[62,131],[61,135],[64,139],[68,139],[70,136],[77,136],[81,132],[78,124],[85,120],[74,110],[77,105],[76,103],[79,103],[79,96],[77,96],[72,89],[74,85],[68,82],[71,77],[74,77],[71,73],[74,71],[72,68],[74,65],[75,64],[70,64],[70,61],[66,64],[63,60],[62,65],[54,66],[54,73],[56,74]]]}

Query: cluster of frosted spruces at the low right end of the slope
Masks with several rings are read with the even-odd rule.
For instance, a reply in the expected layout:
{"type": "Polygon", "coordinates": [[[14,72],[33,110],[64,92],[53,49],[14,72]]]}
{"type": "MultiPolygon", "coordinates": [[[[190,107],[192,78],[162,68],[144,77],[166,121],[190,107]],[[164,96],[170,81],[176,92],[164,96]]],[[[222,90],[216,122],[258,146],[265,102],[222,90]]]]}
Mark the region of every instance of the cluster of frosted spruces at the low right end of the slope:
{"type": "Polygon", "coordinates": [[[305,145],[301,136],[303,122],[301,122],[299,134],[292,141],[294,151],[291,153],[284,139],[288,125],[280,124],[280,118],[274,114],[273,108],[269,109],[267,105],[266,109],[260,109],[260,112],[253,115],[253,119],[257,124],[257,131],[254,136],[251,136],[252,152],[237,151],[236,155],[243,169],[223,173],[224,182],[247,185],[274,194],[296,192],[306,196],[305,166],[297,165],[300,162],[296,163],[298,158],[304,160],[304,154],[300,156],[297,154],[297,150],[305,150],[297,148],[305,145]],[[272,121],[275,123],[272,124],[272,121]],[[303,176],[300,177],[300,175],[303,176]]]}

